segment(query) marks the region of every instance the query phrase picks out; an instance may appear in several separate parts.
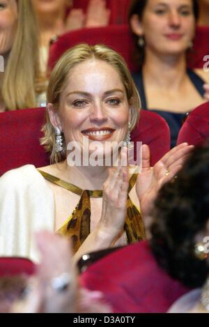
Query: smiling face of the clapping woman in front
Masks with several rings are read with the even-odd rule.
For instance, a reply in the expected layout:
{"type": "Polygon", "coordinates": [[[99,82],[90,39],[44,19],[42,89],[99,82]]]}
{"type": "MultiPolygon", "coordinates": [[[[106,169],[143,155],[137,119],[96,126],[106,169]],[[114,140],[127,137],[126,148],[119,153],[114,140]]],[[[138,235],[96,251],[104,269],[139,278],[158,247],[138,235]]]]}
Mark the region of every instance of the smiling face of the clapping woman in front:
{"type": "Polygon", "coordinates": [[[72,68],[59,105],[59,127],[66,144],[84,144],[88,138],[90,154],[95,151],[93,142],[100,142],[98,154],[107,155],[105,142],[123,142],[129,119],[125,87],[109,63],[91,59],[72,68]]]}

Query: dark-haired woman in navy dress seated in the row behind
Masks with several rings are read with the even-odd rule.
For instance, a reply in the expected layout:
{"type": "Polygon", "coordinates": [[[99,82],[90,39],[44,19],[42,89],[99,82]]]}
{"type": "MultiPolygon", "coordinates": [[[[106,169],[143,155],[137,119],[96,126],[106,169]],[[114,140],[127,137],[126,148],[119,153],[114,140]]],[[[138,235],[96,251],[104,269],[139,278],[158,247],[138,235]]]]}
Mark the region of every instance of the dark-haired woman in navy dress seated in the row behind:
{"type": "Polygon", "coordinates": [[[187,69],[198,6],[195,0],[133,0],[129,21],[139,50],[134,80],[142,107],[158,112],[171,128],[171,146],[185,114],[205,102],[209,73],[187,69]]]}

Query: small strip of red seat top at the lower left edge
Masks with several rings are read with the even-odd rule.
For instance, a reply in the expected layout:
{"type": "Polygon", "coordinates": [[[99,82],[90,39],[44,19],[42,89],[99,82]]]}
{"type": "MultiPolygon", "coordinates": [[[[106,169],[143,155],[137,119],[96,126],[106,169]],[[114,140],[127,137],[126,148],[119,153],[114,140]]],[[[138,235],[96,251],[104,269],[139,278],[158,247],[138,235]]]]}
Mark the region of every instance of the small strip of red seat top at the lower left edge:
{"type": "Polygon", "coordinates": [[[33,275],[35,264],[29,259],[20,257],[0,257],[0,276],[33,275]]]}

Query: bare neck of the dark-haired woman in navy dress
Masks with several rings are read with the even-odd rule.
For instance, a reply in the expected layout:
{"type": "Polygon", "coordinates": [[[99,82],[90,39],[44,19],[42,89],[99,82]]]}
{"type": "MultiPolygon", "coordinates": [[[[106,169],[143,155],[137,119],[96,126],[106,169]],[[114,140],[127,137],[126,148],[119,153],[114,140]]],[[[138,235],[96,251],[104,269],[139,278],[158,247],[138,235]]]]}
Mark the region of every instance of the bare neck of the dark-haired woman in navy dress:
{"type": "Polygon", "coordinates": [[[160,89],[172,87],[173,90],[178,90],[187,77],[185,54],[157,56],[147,51],[142,70],[148,85],[157,86],[160,89]]]}

